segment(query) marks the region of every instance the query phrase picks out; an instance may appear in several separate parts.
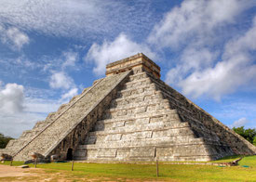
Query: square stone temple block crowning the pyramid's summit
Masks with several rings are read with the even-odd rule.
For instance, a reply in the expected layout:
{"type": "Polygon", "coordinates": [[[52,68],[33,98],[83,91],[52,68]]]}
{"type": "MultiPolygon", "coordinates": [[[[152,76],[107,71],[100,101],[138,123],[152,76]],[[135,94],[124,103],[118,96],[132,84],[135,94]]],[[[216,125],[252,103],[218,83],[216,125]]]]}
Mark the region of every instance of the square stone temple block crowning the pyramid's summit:
{"type": "Polygon", "coordinates": [[[157,66],[153,60],[147,58],[142,53],[138,53],[137,55],[128,58],[123,58],[121,60],[117,60],[113,63],[107,64],[106,76],[118,74],[119,72],[133,70],[137,68],[141,68],[144,71],[148,71],[152,73],[156,78],[160,79],[160,67],[157,66]]]}

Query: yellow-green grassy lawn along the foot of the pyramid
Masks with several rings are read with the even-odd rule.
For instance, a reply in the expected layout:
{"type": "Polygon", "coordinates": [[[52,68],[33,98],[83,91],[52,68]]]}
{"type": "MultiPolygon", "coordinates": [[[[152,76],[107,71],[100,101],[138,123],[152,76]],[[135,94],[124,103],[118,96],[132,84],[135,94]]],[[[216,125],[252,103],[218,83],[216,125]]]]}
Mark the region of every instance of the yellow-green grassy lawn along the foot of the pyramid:
{"type": "MultiPolygon", "coordinates": [[[[239,157],[222,159],[218,162],[226,163],[239,157]]],[[[6,162],[5,164],[9,164],[6,162]]],[[[20,162],[14,162],[20,165],[20,162]]],[[[30,164],[34,167],[34,164],[30,164]]],[[[211,165],[177,165],[159,163],[159,177],[155,176],[155,164],[128,163],[42,163],[38,168],[46,169],[48,174],[62,173],[71,181],[83,178],[101,180],[168,180],[168,181],[256,181],[256,156],[245,157],[234,167],[219,167],[211,165]],[[245,167],[245,165],[249,167],[245,167]]]]}

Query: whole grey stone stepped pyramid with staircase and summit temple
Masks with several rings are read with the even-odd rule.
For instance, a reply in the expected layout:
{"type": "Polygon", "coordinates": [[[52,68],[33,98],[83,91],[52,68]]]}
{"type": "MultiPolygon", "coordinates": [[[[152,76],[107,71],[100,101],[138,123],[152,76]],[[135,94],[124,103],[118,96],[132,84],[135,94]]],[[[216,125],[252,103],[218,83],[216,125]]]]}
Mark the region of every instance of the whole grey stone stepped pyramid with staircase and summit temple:
{"type": "Polygon", "coordinates": [[[160,80],[143,54],[106,67],[97,80],[0,150],[14,161],[211,161],[256,147],[160,80]]]}

